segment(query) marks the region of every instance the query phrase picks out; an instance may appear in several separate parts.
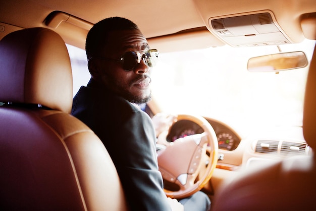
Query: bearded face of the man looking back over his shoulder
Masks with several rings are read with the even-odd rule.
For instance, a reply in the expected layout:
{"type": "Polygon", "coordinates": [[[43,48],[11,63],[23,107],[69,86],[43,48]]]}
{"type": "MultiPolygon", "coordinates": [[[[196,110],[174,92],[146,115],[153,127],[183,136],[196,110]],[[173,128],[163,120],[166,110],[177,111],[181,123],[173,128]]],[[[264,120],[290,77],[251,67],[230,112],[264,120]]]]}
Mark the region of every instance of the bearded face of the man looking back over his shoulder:
{"type": "MultiPolygon", "coordinates": [[[[104,49],[106,51],[99,56],[120,59],[126,52],[146,51],[149,46],[139,30],[124,30],[111,32],[108,45],[104,49]]],[[[108,89],[132,103],[149,101],[150,69],[143,60],[131,71],[125,71],[118,61],[98,60],[96,62],[102,71],[99,79],[108,89]]]]}

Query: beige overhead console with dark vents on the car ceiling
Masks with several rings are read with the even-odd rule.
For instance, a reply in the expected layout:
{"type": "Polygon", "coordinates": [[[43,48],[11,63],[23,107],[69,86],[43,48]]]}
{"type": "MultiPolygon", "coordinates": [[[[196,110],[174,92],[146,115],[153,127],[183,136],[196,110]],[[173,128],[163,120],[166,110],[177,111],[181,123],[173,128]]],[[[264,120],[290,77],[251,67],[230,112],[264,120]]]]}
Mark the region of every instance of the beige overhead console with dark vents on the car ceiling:
{"type": "Polygon", "coordinates": [[[268,46],[292,43],[271,11],[208,20],[211,32],[234,47],[268,46]]]}

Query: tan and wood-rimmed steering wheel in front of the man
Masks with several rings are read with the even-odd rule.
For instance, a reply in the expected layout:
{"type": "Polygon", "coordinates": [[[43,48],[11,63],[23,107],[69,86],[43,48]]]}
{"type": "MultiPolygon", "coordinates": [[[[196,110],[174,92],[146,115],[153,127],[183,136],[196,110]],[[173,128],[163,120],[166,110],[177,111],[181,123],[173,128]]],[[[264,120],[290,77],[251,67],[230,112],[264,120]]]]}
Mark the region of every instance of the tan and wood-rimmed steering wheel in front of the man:
{"type": "Polygon", "coordinates": [[[204,130],[171,143],[166,141],[167,146],[157,151],[164,183],[172,187],[164,184],[164,191],[168,197],[180,199],[201,190],[212,177],[219,147],[214,129],[203,117],[181,114],[176,119],[193,121],[204,130]]]}

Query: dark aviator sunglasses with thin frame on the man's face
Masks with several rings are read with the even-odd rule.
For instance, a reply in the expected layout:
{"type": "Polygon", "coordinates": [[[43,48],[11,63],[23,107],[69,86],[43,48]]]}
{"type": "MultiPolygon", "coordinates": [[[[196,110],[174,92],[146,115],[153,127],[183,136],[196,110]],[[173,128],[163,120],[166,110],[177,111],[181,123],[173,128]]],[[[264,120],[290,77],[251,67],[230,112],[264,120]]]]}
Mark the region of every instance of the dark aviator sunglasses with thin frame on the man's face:
{"type": "Polygon", "coordinates": [[[125,71],[131,71],[143,60],[149,67],[154,67],[158,62],[159,52],[156,49],[144,51],[129,51],[124,53],[120,59],[111,59],[104,57],[94,57],[107,61],[120,62],[125,71]]]}

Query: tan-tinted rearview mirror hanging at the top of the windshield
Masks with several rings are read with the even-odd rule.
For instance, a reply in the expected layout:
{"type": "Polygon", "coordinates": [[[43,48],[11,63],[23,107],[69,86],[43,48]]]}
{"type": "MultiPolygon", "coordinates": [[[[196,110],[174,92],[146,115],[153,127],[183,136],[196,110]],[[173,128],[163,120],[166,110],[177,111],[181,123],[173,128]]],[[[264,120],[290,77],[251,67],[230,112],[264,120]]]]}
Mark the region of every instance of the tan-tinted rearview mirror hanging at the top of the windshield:
{"type": "Polygon", "coordinates": [[[306,67],[306,55],[301,52],[287,52],[252,57],[248,60],[247,69],[250,72],[279,72],[306,67]]]}

